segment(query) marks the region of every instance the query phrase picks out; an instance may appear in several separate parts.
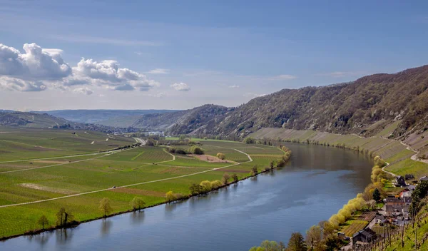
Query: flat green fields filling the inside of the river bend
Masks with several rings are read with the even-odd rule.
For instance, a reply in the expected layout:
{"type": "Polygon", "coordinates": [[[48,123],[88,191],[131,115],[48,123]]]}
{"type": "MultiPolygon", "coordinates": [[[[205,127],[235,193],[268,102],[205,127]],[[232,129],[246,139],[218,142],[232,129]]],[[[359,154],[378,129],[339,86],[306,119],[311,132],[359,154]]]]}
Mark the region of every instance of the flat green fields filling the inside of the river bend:
{"type": "Polygon", "coordinates": [[[103,133],[9,128],[0,132],[4,144],[0,148],[0,237],[39,230],[36,222],[41,215],[54,226],[60,208],[80,222],[101,217],[98,207],[103,198],[111,200],[111,214],[131,210],[135,197],[143,198],[146,206],[164,203],[169,190],[188,195],[191,184],[221,180],[224,173],[246,178],[254,165],[262,170],[282,156],[281,150],[266,145],[201,140],[206,154],[222,152],[228,160],[209,163],[172,155],[163,147],[98,153],[112,145],[135,143],[132,138],[103,133]],[[238,150],[248,153],[253,162],[238,150]]]}

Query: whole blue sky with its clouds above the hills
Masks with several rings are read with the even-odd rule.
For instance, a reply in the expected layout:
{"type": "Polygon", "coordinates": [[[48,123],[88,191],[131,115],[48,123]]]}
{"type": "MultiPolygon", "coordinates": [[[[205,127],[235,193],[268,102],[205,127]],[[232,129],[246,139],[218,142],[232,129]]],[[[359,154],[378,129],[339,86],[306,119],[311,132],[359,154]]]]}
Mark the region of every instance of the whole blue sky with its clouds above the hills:
{"type": "Polygon", "coordinates": [[[239,106],[427,64],[428,1],[0,0],[0,109],[239,106]]]}

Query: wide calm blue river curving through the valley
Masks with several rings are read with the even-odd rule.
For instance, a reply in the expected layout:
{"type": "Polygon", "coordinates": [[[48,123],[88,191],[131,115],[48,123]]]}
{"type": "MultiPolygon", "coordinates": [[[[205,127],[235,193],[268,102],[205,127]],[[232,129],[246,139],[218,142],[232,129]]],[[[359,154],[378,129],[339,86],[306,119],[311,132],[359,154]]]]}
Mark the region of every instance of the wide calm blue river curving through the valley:
{"type": "Polygon", "coordinates": [[[350,150],[288,143],[285,168],[209,195],[66,230],[16,237],[0,250],[248,250],[287,243],[327,220],[370,183],[372,163],[350,150]]]}

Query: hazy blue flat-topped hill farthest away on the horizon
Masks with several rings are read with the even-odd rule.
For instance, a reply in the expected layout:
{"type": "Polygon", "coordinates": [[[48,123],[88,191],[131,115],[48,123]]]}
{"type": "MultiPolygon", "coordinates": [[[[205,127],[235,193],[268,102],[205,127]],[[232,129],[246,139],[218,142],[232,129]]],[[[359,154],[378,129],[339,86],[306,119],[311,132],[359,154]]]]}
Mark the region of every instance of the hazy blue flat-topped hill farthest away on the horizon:
{"type": "MultiPolygon", "coordinates": [[[[32,111],[33,113],[47,113],[59,118],[65,118],[68,121],[78,123],[99,123],[105,126],[111,126],[114,121],[121,121],[126,117],[142,116],[151,113],[170,113],[178,110],[55,110],[55,111],[32,111]],[[112,120],[112,121],[111,121],[112,120]],[[103,121],[103,123],[100,123],[103,121]],[[106,124],[104,124],[106,123],[106,124]]],[[[128,118],[128,120],[130,119],[128,118]]],[[[126,127],[125,123],[116,122],[116,126],[126,127]]]]}

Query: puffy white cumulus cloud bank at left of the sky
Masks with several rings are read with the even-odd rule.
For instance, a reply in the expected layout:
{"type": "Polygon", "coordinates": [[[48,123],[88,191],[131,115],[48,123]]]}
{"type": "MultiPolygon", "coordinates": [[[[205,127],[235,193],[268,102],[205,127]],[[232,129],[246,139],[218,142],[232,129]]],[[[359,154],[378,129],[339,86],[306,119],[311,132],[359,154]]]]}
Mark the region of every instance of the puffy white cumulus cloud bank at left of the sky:
{"type": "Polygon", "coordinates": [[[24,53],[0,43],[0,88],[10,91],[63,91],[91,95],[89,86],[101,86],[114,91],[149,91],[160,83],[117,61],[82,58],[77,66],[66,63],[57,48],[41,48],[36,43],[24,44],[24,53]]]}

